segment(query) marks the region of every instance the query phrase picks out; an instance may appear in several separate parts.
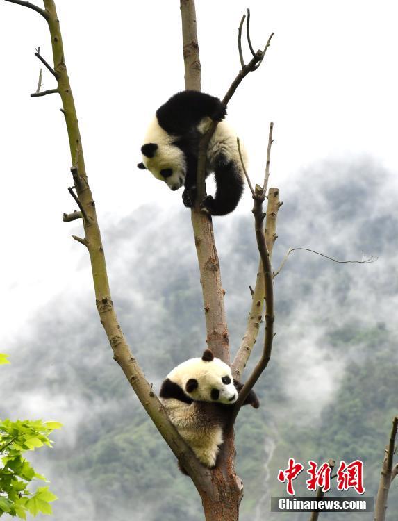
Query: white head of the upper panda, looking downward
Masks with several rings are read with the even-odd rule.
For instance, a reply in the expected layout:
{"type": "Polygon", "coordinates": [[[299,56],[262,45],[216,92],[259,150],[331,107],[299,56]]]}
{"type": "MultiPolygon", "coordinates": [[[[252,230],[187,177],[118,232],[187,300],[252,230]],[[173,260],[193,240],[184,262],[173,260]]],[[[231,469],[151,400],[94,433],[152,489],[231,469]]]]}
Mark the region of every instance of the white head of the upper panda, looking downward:
{"type": "Polygon", "coordinates": [[[183,151],[173,141],[174,138],[160,127],[155,118],[141,147],[142,163],[138,167],[148,169],[174,191],[185,183],[186,163],[183,151]]]}

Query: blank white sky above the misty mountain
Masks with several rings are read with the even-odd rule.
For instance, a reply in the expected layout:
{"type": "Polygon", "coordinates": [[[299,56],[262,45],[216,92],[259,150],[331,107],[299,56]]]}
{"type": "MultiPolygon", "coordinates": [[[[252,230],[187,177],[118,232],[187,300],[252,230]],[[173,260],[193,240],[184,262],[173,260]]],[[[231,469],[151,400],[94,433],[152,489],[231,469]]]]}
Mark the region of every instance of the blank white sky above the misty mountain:
{"type": "MultiPolygon", "coordinates": [[[[135,167],[150,117],[183,89],[179,2],[56,3],[101,228],[145,202],[182,205],[181,191],[170,192],[135,167]]],[[[237,29],[247,6],[197,0],[204,92],[222,97],[237,74],[237,29]]],[[[303,167],[322,158],[368,154],[396,172],[397,3],[251,0],[249,7],[254,47],[275,33],[266,63],[244,80],[229,106],[229,120],[249,151],[252,179],[263,176],[270,120],[271,184],[279,185],[282,199],[303,167]]],[[[67,192],[60,99],[29,97],[38,82],[38,46],[50,61],[44,19],[0,0],[1,352],[40,304],[64,288],[78,292],[91,284],[87,276],[74,278],[84,253],[70,239],[78,225],[61,220],[75,206],[67,192]]],[[[51,74],[43,74],[44,89],[54,88],[51,74]]],[[[305,188],[305,178],[300,182],[305,188]]],[[[249,206],[243,202],[239,211],[249,206]]]]}

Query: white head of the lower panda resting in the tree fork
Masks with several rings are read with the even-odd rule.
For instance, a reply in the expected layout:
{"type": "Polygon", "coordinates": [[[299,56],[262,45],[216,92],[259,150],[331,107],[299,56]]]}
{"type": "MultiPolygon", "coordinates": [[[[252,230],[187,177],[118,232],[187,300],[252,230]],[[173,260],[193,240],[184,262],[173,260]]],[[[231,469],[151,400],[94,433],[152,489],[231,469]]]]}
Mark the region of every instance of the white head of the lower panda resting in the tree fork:
{"type": "Polygon", "coordinates": [[[231,367],[219,358],[190,358],[177,365],[167,378],[195,402],[233,404],[238,399],[231,367]]]}

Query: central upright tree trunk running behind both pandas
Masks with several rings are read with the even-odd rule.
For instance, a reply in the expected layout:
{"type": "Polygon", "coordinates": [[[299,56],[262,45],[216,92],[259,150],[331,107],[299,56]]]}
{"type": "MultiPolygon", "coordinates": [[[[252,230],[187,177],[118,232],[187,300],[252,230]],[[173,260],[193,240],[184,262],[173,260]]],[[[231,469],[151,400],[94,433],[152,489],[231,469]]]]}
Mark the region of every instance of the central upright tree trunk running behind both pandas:
{"type": "MultiPolygon", "coordinates": [[[[197,40],[194,0],[180,0],[183,30],[185,88],[201,90],[201,63],[197,40]]],[[[198,186],[198,201],[204,196],[198,186]]],[[[191,213],[204,300],[208,347],[215,356],[229,363],[229,338],[224,308],[224,290],[211,217],[197,204],[191,213]]],[[[233,429],[226,433],[217,468],[211,473],[213,492],[199,493],[206,521],[238,521],[243,496],[242,481],[235,475],[235,440],[233,429]]]]}

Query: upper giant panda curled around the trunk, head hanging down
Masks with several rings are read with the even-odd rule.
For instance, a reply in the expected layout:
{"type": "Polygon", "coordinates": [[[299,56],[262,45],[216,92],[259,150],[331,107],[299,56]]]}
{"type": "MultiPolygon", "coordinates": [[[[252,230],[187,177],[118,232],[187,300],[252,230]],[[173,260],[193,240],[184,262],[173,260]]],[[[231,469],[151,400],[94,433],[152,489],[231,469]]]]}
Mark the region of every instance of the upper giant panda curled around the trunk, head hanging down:
{"type": "MultiPolygon", "coordinates": [[[[142,162],[156,179],[171,190],[184,185],[183,203],[192,208],[197,194],[199,140],[213,121],[217,125],[207,150],[206,177],[215,174],[215,197],[208,195],[201,208],[210,215],[225,215],[235,210],[244,186],[236,133],[224,122],[226,106],[218,98],[185,90],[174,94],[156,111],[141,147],[142,162]]],[[[241,145],[242,159],[247,156],[241,145]]]]}

